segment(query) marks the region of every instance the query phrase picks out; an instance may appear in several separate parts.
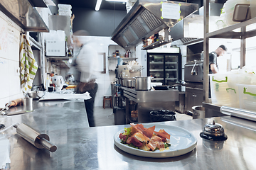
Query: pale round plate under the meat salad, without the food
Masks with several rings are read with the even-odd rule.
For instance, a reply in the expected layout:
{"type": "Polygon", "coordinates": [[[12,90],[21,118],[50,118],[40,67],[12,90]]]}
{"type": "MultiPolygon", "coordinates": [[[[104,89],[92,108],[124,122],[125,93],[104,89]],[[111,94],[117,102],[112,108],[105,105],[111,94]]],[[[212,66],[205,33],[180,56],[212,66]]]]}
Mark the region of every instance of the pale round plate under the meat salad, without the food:
{"type": "MultiPolygon", "coordinates": [[[[151,126],[153,125],[145,125],[144,127],[150,128],[151,126]]],[[[188,130],[185,130],[177,126],[156,125],[155,131],[158,132],[160,129],[164,129],[171,135],[171,147],[162,152],[160,152],[159,150],[156,150],[155,152],[144,151],[120,143],[121,140],[119,138],[119,134],[124,132],[124,130],[120,130],[114,135],[114,145],[116,145],[117,147],[119,147],[119,149],[129,154],[134,154],[140,157],[154,158],[177,157],[182,154],[191,152],[196,147],[196,137],[194,137],[194,135],[191,134],[191,132],[188,132],[188,130]]]]}

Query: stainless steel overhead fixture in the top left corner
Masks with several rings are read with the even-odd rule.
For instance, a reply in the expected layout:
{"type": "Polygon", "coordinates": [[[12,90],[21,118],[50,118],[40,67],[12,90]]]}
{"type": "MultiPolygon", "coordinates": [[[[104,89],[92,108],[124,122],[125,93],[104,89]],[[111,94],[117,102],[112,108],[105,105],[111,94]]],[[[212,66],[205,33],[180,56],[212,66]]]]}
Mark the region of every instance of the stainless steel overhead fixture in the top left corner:
{"type": "Polygon", "coordinates": [[[49,32],[49,28],[35,8],[47,7],[43,4],[42,0],[0,0],[0,11],[25,31],[49,32]]]}

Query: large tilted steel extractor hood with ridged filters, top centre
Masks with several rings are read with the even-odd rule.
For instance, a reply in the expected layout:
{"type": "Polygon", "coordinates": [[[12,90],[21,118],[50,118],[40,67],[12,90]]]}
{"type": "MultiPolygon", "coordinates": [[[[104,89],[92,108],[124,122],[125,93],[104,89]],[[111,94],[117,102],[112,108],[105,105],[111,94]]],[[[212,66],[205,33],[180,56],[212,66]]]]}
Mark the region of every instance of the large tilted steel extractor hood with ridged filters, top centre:
{"type": "Polygon", "coordinates": [[[137,0],[127,16],[112,33],[112,40],[124,49],[128,49],[142,42],[142,38],[149,38],[160,30],[174,27],[178,21],[182,21],[183,18],[197,10],[198,4],[179,1],[137,0]],[[166,13],[162,6],[166,6],[166,4],[170,6],[179,5],[178,19],[169,19],[162,16],[164,12],[166,13]]]}

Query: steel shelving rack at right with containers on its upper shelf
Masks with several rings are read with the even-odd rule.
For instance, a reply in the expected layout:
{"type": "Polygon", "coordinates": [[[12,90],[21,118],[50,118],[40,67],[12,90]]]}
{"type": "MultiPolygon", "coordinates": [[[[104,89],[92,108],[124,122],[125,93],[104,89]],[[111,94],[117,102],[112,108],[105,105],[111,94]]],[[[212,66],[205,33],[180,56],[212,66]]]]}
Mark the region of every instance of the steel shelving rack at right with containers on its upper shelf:
{"type": "Polygon", "coordinates": [[[256,18],[244,21],[242,23],[234,24],[233,26],[228,26],[220,30],[215,30],[209,33],[209,2],[210,0],[203,1],[203,22],[204,22],[204,38],[203,38],[203,101],[210,103],[208,98],[209,91],[209,38],[230,38],[230,39],[240,39],[240,68],[245,66],[245,39],[256,36],[256,27],[253,27],[253,24],[256,24],[256,18]],[[252,28],[250,28],[252,26],[252,28]],[[250,28],[250,29],[249,29],[250,28]],[[235,30],[235,31],[234,31],[235,30]]]}

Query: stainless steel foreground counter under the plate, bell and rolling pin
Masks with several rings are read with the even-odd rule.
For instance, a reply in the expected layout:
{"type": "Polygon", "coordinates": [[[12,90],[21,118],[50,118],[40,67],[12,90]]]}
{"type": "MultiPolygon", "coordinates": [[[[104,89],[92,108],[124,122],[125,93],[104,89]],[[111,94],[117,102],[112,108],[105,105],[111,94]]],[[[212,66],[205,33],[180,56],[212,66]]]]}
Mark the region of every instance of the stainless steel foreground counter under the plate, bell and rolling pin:
{"type": "MultiPolygon", "coordinates": [[[[34,107],[34,105],[33,105],[34,107]]],[[[153,159],[127,154],[114,146],[113,136],[129,125],[87,128],[82,102],[36,103],[35,111],[10,116],[13,123],[26,123],[50,136],[56,152],[36,149],[18,135],[9,137],[10,169],[255,169],[256,124],[250,120],[224,116],[178,120],[157,124],[175,125],[198,140],[192,152],[180,157],[153,159]],[[215,120],[225,128],[228,140],[210,142],[199,133],[215,120]]],[[[149,124],[149,123],[148,123],[149,124]]],[[[151,123],[156,124],[156,123],[151,123]]]]}

